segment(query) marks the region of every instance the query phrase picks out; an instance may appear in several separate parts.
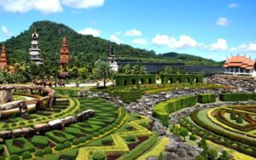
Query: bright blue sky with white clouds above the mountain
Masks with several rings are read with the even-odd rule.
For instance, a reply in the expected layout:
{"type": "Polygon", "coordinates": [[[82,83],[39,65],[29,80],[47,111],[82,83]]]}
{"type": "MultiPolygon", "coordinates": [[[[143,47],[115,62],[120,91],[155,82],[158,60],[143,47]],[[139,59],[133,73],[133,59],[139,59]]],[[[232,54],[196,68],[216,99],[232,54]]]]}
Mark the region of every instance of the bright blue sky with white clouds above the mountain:
{"type": "Polygon", "coordinates": [[[255,59],[255,7],[253,0],[0,0],[0,41],[52,20],[157,54],[255,59]]]}

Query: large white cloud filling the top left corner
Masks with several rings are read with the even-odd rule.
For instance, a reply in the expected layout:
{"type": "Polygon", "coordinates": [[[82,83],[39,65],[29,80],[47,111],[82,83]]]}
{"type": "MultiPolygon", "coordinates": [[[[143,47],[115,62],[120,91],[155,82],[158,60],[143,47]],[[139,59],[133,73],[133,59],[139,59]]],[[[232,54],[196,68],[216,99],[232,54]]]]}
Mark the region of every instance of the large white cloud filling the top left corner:
{"type": "Polygon", "coordinates": [[[7,12],[26,13],[38,10],[44,14],[62,11],[59,0],[5,0],[0,1],[0,7],[7,12]]]}

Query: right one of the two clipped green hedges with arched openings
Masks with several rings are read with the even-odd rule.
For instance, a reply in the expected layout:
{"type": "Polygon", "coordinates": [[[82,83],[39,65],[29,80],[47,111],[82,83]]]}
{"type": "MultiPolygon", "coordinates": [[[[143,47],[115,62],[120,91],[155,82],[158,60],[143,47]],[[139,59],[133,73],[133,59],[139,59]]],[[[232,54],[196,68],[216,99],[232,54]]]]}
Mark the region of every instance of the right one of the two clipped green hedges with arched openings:
{"type": "Polygon", "coordinates": [[[201,74],[170,74],[160,75],[162,83],[202,83],[203,75],[201,74]]]}

